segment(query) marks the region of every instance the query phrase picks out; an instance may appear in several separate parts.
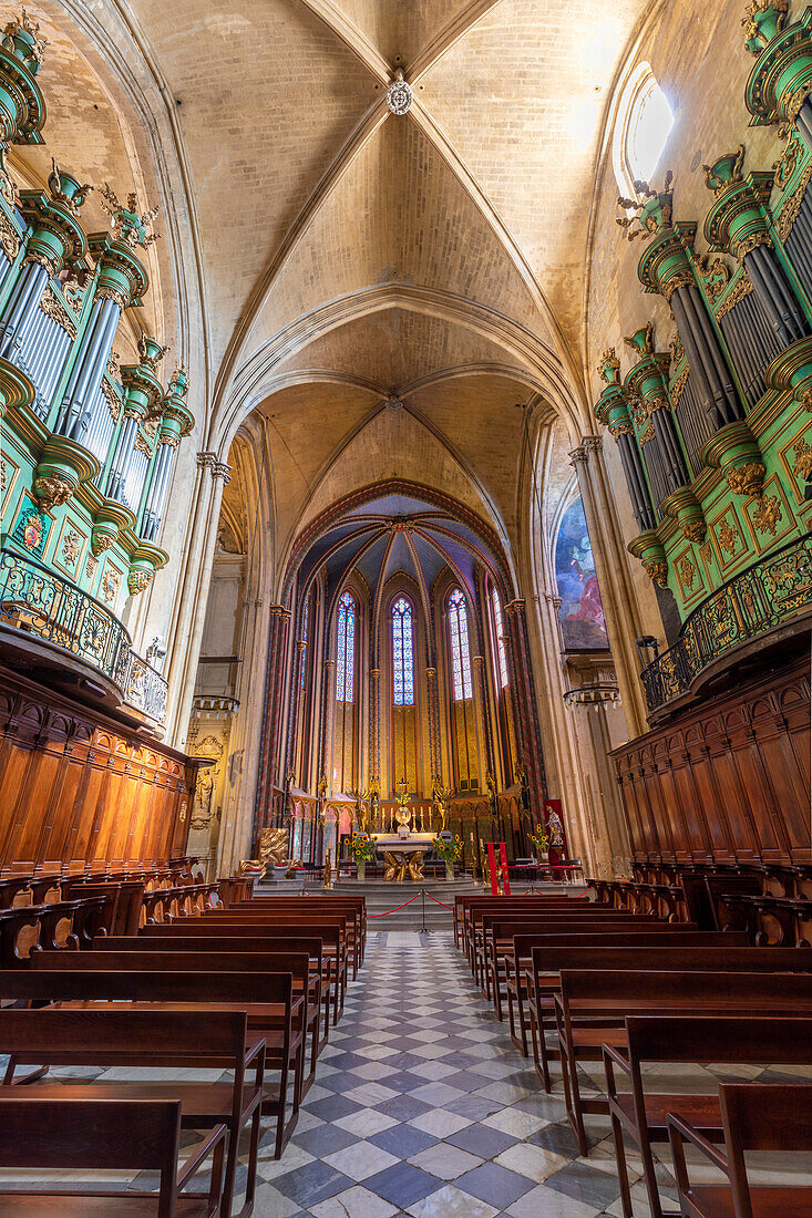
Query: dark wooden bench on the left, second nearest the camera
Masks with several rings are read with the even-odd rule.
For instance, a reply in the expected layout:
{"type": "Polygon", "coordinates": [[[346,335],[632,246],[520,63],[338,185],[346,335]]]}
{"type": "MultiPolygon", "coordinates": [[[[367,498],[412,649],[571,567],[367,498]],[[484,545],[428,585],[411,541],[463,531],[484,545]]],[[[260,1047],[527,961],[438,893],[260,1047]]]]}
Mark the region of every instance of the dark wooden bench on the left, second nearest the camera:
{"type": "Polygon", "coordinates": [[[223,1214],[230,1213],[240,1130],[250,1127],[245,1206],[254,1207],[260,1144],[265,1041],[248,1032],[245,1011],[207,1010],[180,1005],[172,1010],[155,1004],[145,1010],[106,1005],[80,1010],[43,1007],[38,1011],[0,1011],[0,1054],[23,1065],[45,1066],[158,1066],[217,1068],[234,1072],[230,1083],[40,1083],[0,1086],[0,1100],[12,1096],[54,1100],[179,1100],[180,1119],[188,1129],[228,1129],[223,1183],[223,1214]],[[254,1069],[254,1082],[246,1071],[254,1069]]]}

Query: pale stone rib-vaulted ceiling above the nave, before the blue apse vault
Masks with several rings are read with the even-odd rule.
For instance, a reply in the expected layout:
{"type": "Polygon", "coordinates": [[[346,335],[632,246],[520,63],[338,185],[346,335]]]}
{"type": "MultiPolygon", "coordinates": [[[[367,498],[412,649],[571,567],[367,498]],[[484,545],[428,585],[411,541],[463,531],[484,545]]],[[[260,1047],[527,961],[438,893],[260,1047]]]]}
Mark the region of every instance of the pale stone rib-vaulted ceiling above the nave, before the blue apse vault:
{"type": "MultiPolygon", "coordinates": [[[[44,0],[48,155],[63,145],[119,192],[149,162],[149,122],[124,121],[115,72],[93,76],[96,58],[115,66],[94,21],[138,50],[134,78],[151,73],[172,111],[187,197],[168,206],[194,238],[207,369],[200,447],[224,458],[256,412],[279,560],[330,497],[391,476],[449,488],[515,541],[517,404],[569,402],[571,432],[589,425],[590,196],[613,80],[657,5],[96,0],[71,74],[67,0],[44,0]],[[386,107],[397,68],[406,116],[386,107]]],[[[150,256],[172,296],[177,263],[150,256]]]]}

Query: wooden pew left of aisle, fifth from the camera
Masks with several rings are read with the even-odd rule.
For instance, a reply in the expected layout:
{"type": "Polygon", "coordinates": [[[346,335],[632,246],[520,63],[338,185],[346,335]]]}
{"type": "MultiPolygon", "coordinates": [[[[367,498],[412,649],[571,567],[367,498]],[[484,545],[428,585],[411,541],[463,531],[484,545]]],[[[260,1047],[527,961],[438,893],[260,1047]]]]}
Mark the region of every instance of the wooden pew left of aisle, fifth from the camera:
{"type": "MultiPolygon", "coordinates": [[[[319,1052],[324,1049],[329,1038],[330,1027],[330,1013],[335,1006],[334,999],[334,967],[335,967],[335,955],[334,951],[330,952],[329,948],[335,948],[338,942],[338,931],[332,928],[333,943],[330,944],[328,938],[328,950],[324,951],[323,935],[289,935],[284,932],[280,934],[267,933],[263,929],[261,935],[256,934],[243,934],[238,931],[237,934],[223,934],[223,932],[211,932],[208,934],[198,933],[198,923],[189,927],[187,923],[183,926],[168,926],[166,927],[166,934],[139,934],[139,935],[124,935],[124,937],[110,937],[99,939],[94,948],[98,951],[115,952],[140,952],[140,951],[182,951],[182,952],[219,952],[227,954],[229,956],[240,956],[248,954],[266,954],[277,951],[306,951],[311,960],[311,971],[316,970],[321,972],[322,977],[322,1009],[324,1012],[324,1035],[319,1040],[319,1052]],[[330,1006],[332,1004],[332,1006],[330,1006]]],[[[87,954],[85,954],[87,955],[87,954]]],[[[77,962],[77,967],[80,967],[82,962],[77,962]]],[[[93,967],[93,966],[91,966],[93,967]]]]}

